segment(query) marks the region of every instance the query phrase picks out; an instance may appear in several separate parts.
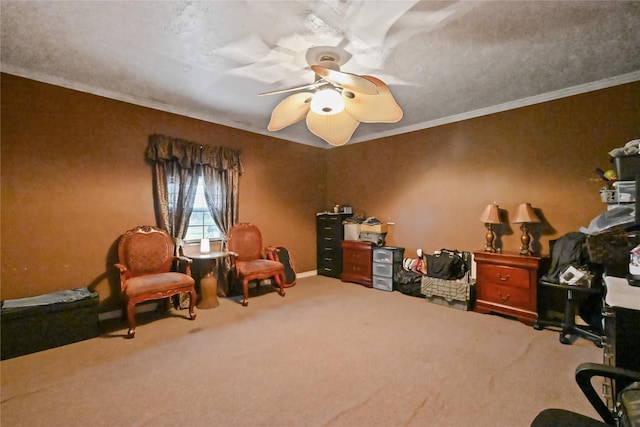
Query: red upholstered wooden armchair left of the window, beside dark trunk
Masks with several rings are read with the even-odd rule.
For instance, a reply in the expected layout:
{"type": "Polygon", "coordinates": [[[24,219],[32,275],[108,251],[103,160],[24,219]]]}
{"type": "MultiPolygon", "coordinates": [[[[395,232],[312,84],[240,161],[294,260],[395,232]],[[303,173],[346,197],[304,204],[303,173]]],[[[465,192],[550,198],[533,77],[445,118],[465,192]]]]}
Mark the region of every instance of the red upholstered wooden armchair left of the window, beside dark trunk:
{"type": "Polygon", "coordinates": [[[120,289],[129,319],[128,337],[136,333],[136,304],[168,298],[182,292],[190,294],[189,317],[196,318],[195,282],[191,277],[192,260],[174,255],[173,239],[165,230],[143,225],[127,231],[118,244],[120,289]],[[184,273],[172,271],[175,262],[184,273]]]}

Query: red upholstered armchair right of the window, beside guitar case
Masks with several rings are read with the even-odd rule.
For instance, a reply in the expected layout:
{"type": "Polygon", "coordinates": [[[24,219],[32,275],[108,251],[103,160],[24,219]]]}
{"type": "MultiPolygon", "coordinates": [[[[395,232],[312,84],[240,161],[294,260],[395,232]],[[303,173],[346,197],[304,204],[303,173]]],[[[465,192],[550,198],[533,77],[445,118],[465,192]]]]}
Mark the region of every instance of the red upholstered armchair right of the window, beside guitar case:
{"type": "Polygon", "coordinates": [[[233,226],[229,231],[227,243],[229,252],[233,252],[231,272],[238,281],[242,281],[243,306],[249,304],[250,280],[280,276],[278,293],[284,296],[284,265],[264,258],[262,234],[258,227],[249,223],[233,226]]]}

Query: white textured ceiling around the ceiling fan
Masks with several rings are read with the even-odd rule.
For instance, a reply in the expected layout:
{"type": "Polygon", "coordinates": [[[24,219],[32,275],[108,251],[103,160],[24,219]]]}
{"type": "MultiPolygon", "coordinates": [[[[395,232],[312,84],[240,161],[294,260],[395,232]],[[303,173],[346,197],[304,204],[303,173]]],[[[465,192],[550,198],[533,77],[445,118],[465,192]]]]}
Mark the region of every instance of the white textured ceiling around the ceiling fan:
{"type": "Polygon", "coordinates": [[[640,2],[29,1],[0,3],[1,68],[302,144],[267,124],[313,82],[313,46],[385,81],[404,110],[352,142],[640,80],[640,2]]]}

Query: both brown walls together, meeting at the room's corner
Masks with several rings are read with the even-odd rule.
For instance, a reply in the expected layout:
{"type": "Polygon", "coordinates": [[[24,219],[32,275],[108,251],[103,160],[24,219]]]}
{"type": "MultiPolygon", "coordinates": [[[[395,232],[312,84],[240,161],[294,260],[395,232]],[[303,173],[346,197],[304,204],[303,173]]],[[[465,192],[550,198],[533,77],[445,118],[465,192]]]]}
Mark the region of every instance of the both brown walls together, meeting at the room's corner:
{"type": "MultiPolygon", "coordinates": [[[[388,243],[410,255],[481,248],[484,206],[528,201],[548,221],[544,245],[602,212],[593,169],[640,137],[640,83],[331,150],[11,75],[1,84],[1,297],[92,285],[101,310],[117,302],[118,236],[155,223],[153,133],[242,150],[240,220],[287,246],[299,272],[316,268],[315,213],[334,203],[395,221],[388,243]]],[[[505,250],[519,245],[510,233],[505,250]]]]}

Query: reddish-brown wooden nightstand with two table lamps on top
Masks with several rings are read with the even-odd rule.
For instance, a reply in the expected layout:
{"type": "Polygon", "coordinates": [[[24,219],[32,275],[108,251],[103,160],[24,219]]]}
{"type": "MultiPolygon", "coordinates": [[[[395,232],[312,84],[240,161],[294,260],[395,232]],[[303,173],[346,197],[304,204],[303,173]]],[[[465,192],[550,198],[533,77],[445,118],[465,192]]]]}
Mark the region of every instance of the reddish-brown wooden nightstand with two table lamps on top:
{"type": "Polygon", "coordinates": [[[479,313],[513,316],[531,326],[538,319],[540,258],[516,253],[474,252],[476,305],[479,313]]]}

